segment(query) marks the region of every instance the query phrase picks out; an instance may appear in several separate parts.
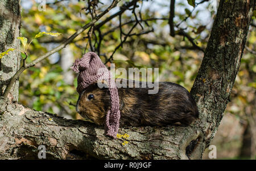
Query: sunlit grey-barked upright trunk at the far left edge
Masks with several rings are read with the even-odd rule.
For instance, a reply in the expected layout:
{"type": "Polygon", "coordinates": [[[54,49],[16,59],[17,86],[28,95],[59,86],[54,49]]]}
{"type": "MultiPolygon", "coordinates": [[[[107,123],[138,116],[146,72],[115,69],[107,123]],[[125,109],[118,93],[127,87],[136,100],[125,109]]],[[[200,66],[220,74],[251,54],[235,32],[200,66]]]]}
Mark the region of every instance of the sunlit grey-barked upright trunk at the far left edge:
{"type": "MultiPolygon", "coordinates": [[[[19,49],[20,7],[17,0],[0,0],[0,53],[9,48],[19,49]]],[[[20,52],[15,50],[0,59],[0,95],[10,78],[19,69],[20,52]]],[[[9,98],[18,101],[19,80],[16,80],[9,98]]]]}

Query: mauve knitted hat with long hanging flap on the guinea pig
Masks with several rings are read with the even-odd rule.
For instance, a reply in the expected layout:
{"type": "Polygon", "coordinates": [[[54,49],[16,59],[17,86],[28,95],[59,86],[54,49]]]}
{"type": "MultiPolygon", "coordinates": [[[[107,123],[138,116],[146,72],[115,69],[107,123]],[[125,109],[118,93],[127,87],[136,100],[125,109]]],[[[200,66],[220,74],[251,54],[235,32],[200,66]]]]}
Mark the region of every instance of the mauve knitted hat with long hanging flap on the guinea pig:
{"type": "Polygon", "coordinates": [[[105,134],[116,138],[120,118],[119,97],[110,71],[101,62],[100,57],[93,52],[88,52],[81,59],[76,59],[71,69],[77,73],[79,72],[76,88],[78,93],[82,93],[88,86],[98,80],[105,80],[108,83],[111,107],[106,114],[105,134]]]}

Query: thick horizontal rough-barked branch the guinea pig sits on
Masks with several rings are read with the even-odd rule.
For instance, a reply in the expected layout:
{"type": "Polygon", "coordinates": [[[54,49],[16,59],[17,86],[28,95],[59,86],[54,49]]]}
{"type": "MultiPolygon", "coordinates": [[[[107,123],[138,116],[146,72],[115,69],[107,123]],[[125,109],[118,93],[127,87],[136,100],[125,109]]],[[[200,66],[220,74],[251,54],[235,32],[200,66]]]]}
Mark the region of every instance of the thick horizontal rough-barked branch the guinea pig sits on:
{"type": "Polygon", "coordinates": [[[0,136],[0,159],[38,159],[40,145],[46,146],[46,159],[68,159],[77,151],[80,159],[198,159],[203,150],[191,150],[190,142],[202,139],[193,126],[125,127],[118,134],[128,134],[127,139],[111,139],[104,127],[93,123],[38,112],[3,98],[0,106],[0,135],[5,132],[0,136]]]}

